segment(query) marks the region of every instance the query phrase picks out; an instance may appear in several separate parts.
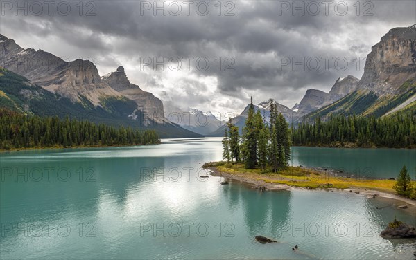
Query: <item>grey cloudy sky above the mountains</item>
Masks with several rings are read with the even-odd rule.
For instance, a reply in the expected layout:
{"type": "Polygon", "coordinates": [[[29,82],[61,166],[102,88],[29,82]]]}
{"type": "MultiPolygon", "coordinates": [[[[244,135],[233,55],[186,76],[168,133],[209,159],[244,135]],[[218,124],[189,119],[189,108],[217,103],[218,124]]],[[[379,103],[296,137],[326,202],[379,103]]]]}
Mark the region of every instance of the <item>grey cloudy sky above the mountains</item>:
{"type": "Polygon", "coordinates": [[[122,65],[168,110],[239,113],[250,95],[291,107],[360,78],[371,47],[415,11],[415,0],[1,1],[0,33],[101,75],[122,65]]]}

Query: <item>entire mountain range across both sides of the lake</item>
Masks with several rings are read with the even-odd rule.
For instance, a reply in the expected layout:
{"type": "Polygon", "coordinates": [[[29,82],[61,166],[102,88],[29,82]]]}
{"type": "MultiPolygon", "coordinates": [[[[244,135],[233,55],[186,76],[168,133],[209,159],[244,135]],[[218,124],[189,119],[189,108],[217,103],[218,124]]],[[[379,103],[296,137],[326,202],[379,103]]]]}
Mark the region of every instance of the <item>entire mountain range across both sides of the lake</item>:
{"type": "MultiPolygon", "coordinates": [[[[289,124],[329,115],[388,115],[416,101],[416,25],[393,28],[372,47],[360,80],[339,77],[331,91],[308,89],[292,109],[275,100],[255,106],[266,119],[269,104],[289,124]]],[[[32,48],[24,49],[0,35],[1,106],[37,115],[69,115],[94,122],[156,129],[162,137],[223,136],[225,122],[211,112],[189,108],[164,117],[164,104],[152,93],[130,83],[123,66],[101,77],[92,62],[72,62],[32,48]]],[[[232,118],[240,131],[248,106],[232,118]]]]}

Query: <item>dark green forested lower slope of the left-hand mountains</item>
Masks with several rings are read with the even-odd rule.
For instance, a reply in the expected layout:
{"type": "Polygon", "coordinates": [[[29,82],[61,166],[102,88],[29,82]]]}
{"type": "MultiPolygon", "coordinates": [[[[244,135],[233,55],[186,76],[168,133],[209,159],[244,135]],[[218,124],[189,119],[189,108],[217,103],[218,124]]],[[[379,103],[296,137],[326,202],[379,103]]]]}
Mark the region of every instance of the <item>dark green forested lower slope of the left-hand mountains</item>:
{"type": "Polygon", "coordinates": [[[8,71],[0,67],[0,108],[10,109],[28,115],[58,116],[58,118],[76,118],[94,123],[104,123],[115,127],[139,127],[140,129],[154,129],[162,138],[183,137],[200,135],[182,129],[175,124],[140,125],[144,120],[144,113],[137,111],[137,119],[133,120],[128,115],[137,104],[126,97],[123,102],[111,102],[107,104],[113,107],[112,111],[94,106],[92,103],[72,102],[67,97],[46,91],[41,86],[33,84],[26,77],[8,71]]]}

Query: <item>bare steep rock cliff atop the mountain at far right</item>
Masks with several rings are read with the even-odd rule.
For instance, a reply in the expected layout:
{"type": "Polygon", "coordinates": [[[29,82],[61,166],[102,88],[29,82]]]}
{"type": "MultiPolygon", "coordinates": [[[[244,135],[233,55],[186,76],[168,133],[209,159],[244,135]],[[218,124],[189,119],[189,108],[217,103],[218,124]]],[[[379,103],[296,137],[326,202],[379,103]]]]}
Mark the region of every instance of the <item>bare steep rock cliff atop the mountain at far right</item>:
{"type": "Polygon", "coordinates": [[[416,26],[393,28],[367,55],[358,89],[376,95],[401,92],[404,82],[416,79],[416,26]]]}

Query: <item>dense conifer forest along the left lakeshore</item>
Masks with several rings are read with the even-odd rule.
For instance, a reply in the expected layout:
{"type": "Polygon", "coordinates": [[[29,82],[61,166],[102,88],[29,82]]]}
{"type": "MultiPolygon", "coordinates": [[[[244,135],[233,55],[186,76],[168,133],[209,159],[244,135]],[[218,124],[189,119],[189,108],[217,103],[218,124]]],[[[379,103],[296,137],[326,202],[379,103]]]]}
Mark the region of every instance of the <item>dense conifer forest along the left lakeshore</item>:
{"type": "Polygon", "coordinates": [[[153,130],[112,127],[88,121],[39,117],[0,109],[0,149],[148,145],[159,143],[153,130]]]}

